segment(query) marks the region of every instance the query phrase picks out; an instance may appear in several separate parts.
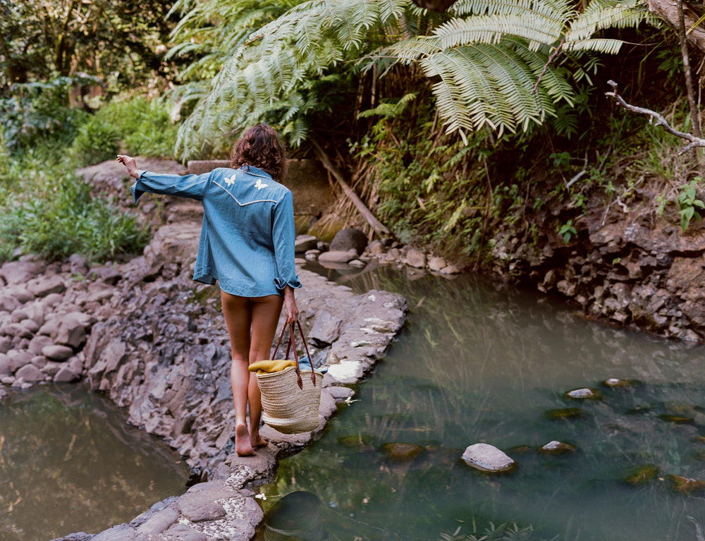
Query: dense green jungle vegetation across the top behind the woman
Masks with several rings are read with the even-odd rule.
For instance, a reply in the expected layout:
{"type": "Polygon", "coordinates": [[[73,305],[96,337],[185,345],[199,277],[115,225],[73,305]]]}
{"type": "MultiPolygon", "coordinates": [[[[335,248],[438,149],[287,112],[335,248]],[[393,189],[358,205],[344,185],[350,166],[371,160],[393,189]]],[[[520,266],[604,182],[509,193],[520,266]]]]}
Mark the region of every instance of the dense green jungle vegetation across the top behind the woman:
{"type": "MultiPolygon", "coordinates": [[[[615,80],[630,102],[697,128],[692,8],[687,28],[641,0],[458,0],[441,13],[410,0],[0,0],[0,11],[1,259],[138,250],[147,233],[129,215],[101,227],[109,200],[86,195],[109,212],[75,212],[73,195],[49,197],[81,191],[66,171],[118,150],[225,157],[258,122],[292,157],[330,159],[399,241],[460,265],[482,267],[496,231],[535,241],[531,215],[549,207],[568,243],[587,205],[609,209],[637,184],[684,229],[699,217],[697,151],[678,154],[677,138],[605,97],[615,80]],[[46,215],[85,223],[87,238],[49,243],[46,215]],[[93,229],[119,238],[105,250],[93,229]]],[[[341,192],[313,232],[344,225],[374,236],[341,192]]]]}

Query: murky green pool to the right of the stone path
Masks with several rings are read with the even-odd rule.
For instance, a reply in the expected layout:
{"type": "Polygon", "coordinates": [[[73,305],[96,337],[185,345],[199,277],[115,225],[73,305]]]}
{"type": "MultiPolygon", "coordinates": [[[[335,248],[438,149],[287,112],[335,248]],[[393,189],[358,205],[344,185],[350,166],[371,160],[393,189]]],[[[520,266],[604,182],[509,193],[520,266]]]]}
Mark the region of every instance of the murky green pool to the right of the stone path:
{"type": "Polygon", "coordinates": [[[403,293],[407,325],[357,388],[359,401],[281,463],[266,487],[271,502],[313,492],[341,541],[439,540],[459,527],[479,536],[491,523],[530,526],[530,539],[699,540],[705,492],[675,492],[668,480],[705,480],[702,346],[588,322],[561,303],[467,277],[410,281],[378,269],[338,280],[403,293]],[[608,378],[631,384],[609,387],[608,378]],[[601,399],[565,396],[580,387],[601,399]],[[569,408],[580,413],[556,415],[569,408]],[[538,451],[554,440],[577,450],[538,451]],[[423,452],[395,459],[390,442],[423,452]],[[460,455],[477,442],[519,468],[472,470],[460,455]],[[639,471],[644,482],[634,482],[639,471]]]}

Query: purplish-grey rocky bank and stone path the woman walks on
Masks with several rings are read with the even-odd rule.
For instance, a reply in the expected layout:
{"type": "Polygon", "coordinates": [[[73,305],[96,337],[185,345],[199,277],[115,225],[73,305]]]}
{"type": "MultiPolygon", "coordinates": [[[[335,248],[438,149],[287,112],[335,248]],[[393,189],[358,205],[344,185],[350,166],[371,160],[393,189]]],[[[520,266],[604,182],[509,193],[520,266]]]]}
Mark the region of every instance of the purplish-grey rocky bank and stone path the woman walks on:
{"type": "MultiPolygon", "coordinates": [[[[111,164],[104,169],[92,181],[124,190],[122,173],[111,164]]],[[[250,540],[263,519],[257,487],[274,479],[279,458],[319,437],[338,403],[354,396],[351,386],[403,327],[405,299],[384,291],[357,295],[299,269],[297,303],[309,352],[314,365],[327,367],[319,427],[281,434],[264,426],[269,445],[257,456],[238,457],[219,290],[191,279],[198,206],[147,202],[142,212],[157,226],[138,257],[88,265],[76,255],[52,264],[25,255],[0,267],[0,399],[8,387],[83,381],[124,408],[128,423],[163,437],[191,468],[185,494],[157,502],[130,523],[61,540],[250,540]]],[[[312,239],[299,242],[303,255],[312,239]]],[[[340,248],[353,259],[354,248],[340,248]]]]}

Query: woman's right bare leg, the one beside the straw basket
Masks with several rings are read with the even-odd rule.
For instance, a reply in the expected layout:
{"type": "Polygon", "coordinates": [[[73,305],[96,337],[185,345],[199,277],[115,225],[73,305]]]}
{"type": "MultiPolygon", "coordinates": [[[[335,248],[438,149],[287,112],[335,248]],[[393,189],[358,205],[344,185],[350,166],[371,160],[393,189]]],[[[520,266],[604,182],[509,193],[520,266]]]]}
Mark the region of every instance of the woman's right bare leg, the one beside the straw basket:
{"type": "MultiPolygon", "coordinates": [[[[252,301],[252,339],[250,341],[250,363],[269,359],[271,344],[276,334],[276,324],[283,305],[283,298],[278,295],[257,297],[252,301]]],[[[262,395],[257,386],[257,377],[252,374],[247,392],[250,401],[250,443],[253,447],[262,447],[266,442],[259,436],[259,422],[262,420],[262,395]]]]}

